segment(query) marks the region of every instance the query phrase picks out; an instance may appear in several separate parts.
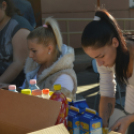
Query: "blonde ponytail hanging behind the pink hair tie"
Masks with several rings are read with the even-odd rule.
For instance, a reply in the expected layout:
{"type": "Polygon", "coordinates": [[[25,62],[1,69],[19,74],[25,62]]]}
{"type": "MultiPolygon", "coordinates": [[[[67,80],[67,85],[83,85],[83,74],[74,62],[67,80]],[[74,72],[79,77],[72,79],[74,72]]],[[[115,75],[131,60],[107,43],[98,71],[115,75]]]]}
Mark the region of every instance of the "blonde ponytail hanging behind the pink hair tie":
{"type": "Polygon", "coordinates": [[[52,28],[53,33],[54,33],[55,38],[56,38],[58,49],[59,49],[59,51],[61,51],[62,35],[61,35],[61,32],[60,32],[59,25],[58,25],[57,21],[55,19],[53,19],[52,17],[48,17],[45,20],[45,24],[52,28]]]}

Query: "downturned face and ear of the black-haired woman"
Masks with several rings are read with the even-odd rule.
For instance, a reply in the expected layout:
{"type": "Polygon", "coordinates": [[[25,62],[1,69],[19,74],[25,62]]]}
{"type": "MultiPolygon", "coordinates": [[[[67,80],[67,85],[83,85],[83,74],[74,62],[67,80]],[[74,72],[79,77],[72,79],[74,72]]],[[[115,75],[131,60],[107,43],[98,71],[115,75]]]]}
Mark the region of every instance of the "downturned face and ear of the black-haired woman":
{"type": "Polygon", "coordinates": [[[87,55],[96,59],[99,66],[112,67],[115,64],[118,45],[118,40],[113,38],[111,45],[105,45],[101,48],[84,47],[83,49],[87,55]]]}

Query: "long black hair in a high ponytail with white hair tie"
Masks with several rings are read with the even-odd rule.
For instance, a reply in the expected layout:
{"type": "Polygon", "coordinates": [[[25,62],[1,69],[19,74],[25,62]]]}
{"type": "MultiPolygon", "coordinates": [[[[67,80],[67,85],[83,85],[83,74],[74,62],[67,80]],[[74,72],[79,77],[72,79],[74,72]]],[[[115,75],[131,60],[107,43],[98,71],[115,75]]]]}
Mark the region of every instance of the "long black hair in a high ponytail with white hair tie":
{"type": "Polygon", "coordinates": [[[115,18],[106,10],[99,10],[95,13],[100,20],[93,20],[84,29],[81,43],[83,47],[100,48],[111,45],[113,37],[116,37],[119,46],[116,56],[116,78],[119,84],[127,81],[127,69],[129,64],[129,52],[126,42],[115,18]]]}

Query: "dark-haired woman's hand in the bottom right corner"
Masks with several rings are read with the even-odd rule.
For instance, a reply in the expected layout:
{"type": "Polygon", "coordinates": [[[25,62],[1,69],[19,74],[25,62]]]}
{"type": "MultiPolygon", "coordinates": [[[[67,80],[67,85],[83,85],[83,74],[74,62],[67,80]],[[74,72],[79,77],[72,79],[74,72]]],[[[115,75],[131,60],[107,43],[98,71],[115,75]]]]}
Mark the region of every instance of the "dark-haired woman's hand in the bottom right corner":
{"type": "Polygon", "coordinates": [[[128,115],[120,118],[116,121],[116,123],[110,128],[110,130],[125,134],[126,130],[128,129],[129,125],[131,124],[132,118],[134,115],[128,115]]]}

